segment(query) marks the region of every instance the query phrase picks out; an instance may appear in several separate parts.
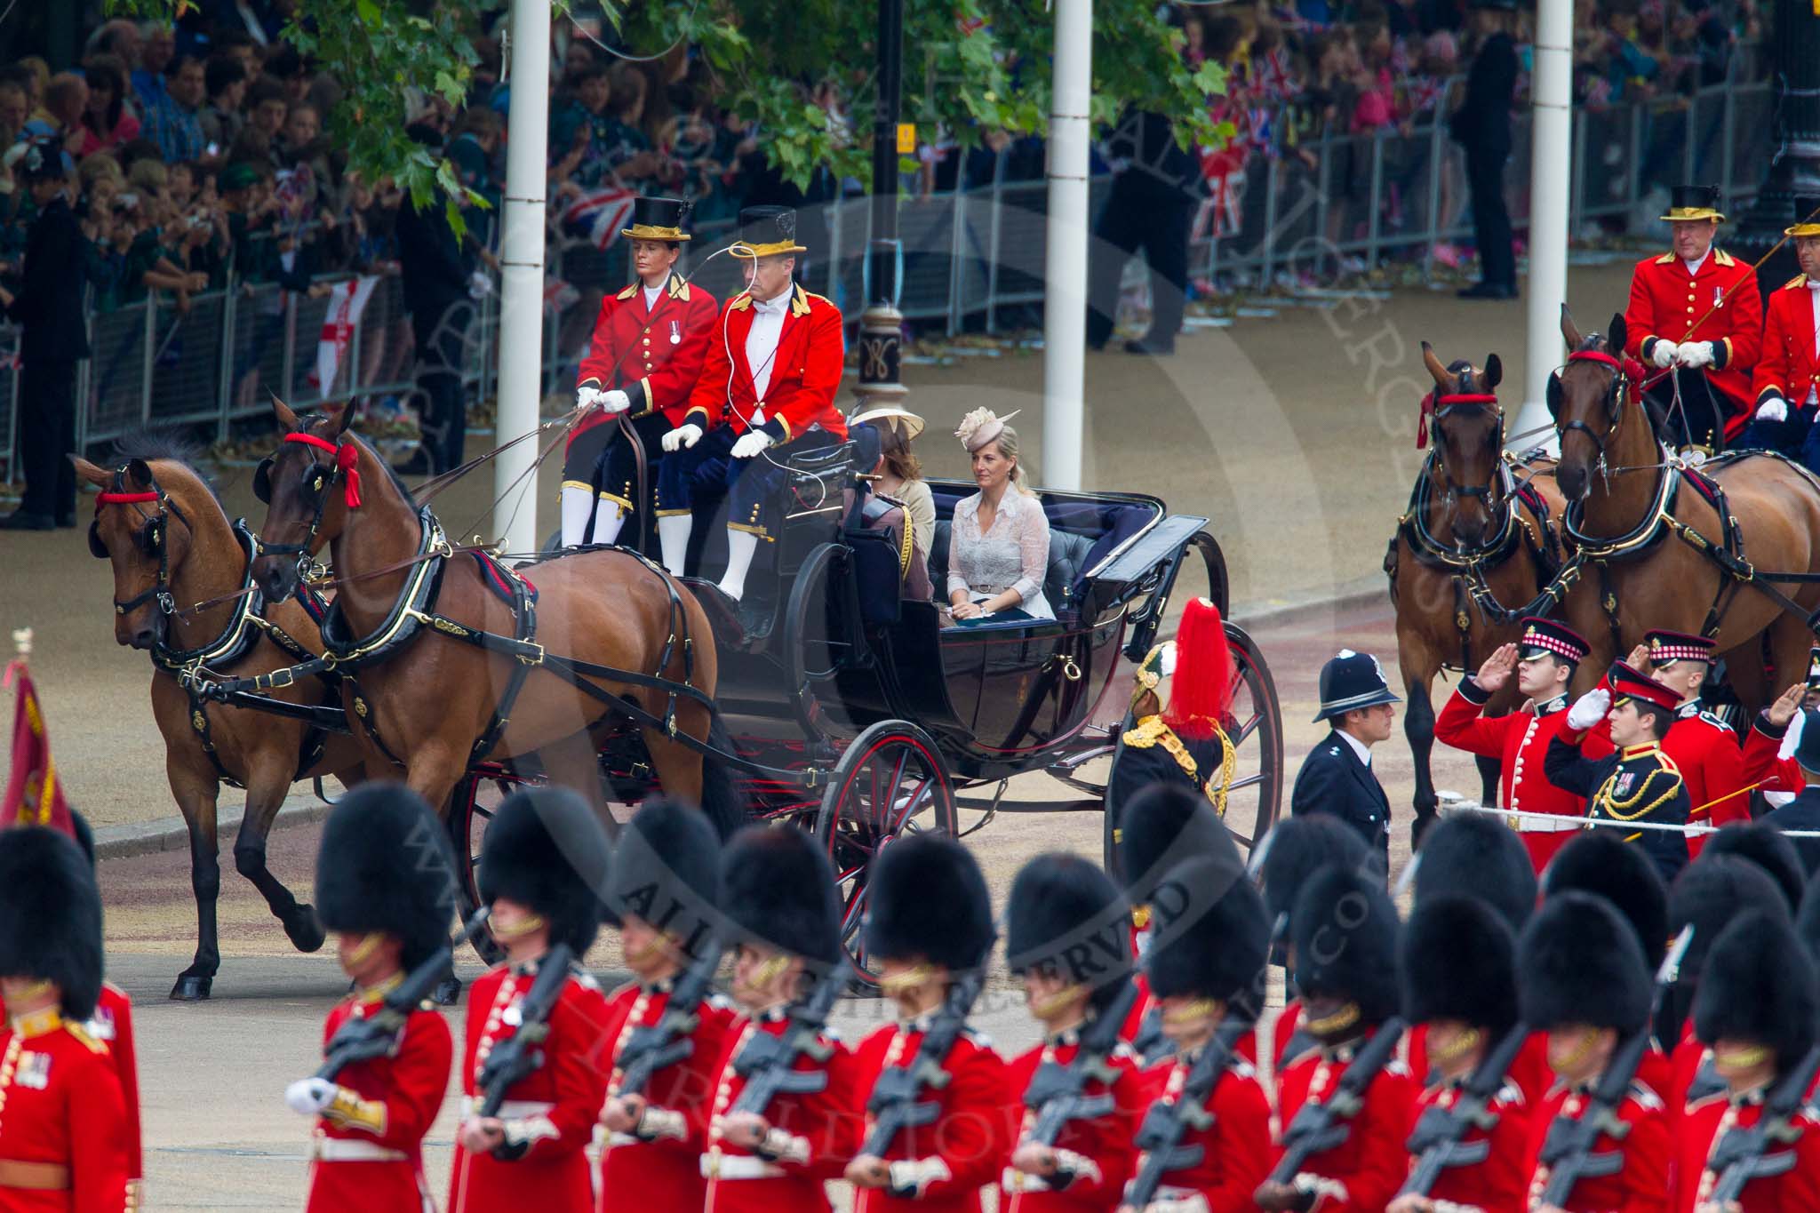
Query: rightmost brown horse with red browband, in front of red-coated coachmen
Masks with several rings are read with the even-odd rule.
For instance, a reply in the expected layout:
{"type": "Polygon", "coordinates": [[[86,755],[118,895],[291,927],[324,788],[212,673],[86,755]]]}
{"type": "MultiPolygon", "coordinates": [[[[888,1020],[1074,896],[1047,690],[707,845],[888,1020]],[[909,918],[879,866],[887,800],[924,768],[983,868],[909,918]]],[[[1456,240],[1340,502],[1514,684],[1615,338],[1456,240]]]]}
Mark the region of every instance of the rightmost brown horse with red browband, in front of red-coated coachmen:
{"type": "Polygon", "coordinates": [[[1807,669],[1805,615],[1820,604],[1820,584],[1778,584],[1774,575],[1820,571],[1820,484],[1765,455],[1722,460],[1700,480],[1718,484],[1727,526],[1700,480],[1667,462],[1651,429],[1638,384],[1625,375],[1623,316],[1611,318],[1609,333],[1582,335],[1563,306],[1562,336],[1572,353],[1549,386],[1562,435],[1556,480],[1585,580],[1611,617],[1587,633],[1589,664],[1627,653],[1649,627],[1705,633],[1727,658],[1733,691],[1756,711],[1807,669]],[[1727,531],[1733,555],[1756,571],[1754,587],[1705,551],[1725,551],[1727,531]],[[1787,595],[1796,609],[1771,593],[1787,595]]]}

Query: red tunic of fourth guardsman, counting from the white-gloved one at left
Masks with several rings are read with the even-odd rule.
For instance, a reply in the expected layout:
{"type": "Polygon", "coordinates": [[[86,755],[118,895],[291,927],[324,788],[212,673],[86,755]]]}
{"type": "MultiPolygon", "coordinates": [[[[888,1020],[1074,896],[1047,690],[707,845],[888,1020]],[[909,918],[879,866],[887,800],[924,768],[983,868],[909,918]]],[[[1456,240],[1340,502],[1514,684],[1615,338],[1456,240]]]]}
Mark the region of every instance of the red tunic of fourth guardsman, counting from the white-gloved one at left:
{"type": "Polygon", "coordinates": [[[828,1084],[801,1095],[786,1091],[763,1113],[772,1133],[788,1138],[775,1158],[761,1158],[721,1137],[723,1118],[746,1089],[746,1080],[733,1071],[733,1058],[755,1033],[781,1037],[788,1026],[784,1009],[775,1007],[757,1018],[733,1020],[726,1033],[726,1051],[715,1068],[719,1078],[708,1120],[708,1151],[701,1157],[701,1173],[708,1178],[704,1213],[826,1213],[830,1206],[823,1182],[841,1178],[859,1151],[863,1118],[854,1108],[864,1097],[859,1093],[857,1062],[832,1035],[821,1038],[826,1060],[795,1060],[795,1069],[824,1071],[828,1084]]]}

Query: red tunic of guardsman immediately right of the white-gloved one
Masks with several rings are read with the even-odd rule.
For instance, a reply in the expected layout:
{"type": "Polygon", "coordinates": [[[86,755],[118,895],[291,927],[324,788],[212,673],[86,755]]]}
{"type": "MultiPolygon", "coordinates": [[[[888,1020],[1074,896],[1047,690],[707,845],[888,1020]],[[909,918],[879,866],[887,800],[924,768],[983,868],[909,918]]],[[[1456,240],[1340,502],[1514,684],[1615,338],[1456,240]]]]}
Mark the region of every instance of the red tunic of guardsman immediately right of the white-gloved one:
{"type": "MultiPolygon", "coordinates": [[[[537,980],[533,966],[499,966],[468,989],[468,1040],[462,1055],[462,1115],[484,1098],[475,1088],[486,1055],[517,1029],[519,1004],[537,980]]],[[[550,1011],[550,1035],[539,1051],[544,1064],[513,1086],[500,1120],[510,1138],[530,1149],[511,1160],[468,1155],[455,1148],[450,1208],[462,1213],[555,1213],[593,1208],[593,1182],[584,1148],[606,1100],[606,998],[586,977],[573,975],[550,1011]]]]}

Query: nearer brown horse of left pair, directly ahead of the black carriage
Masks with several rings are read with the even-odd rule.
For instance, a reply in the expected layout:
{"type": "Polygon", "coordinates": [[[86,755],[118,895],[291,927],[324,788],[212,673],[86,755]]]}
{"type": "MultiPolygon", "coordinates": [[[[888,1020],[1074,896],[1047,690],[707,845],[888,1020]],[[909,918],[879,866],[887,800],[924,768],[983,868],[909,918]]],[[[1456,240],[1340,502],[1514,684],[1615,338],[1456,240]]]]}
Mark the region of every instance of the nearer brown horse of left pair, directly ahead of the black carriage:
{"type": "MultiPolygon", "coordinates": [[[[404,767],[406,784],[446,807],[455,782],[480,757],[477,742],[502,724],[493,744],[482,746],[486,758],[537,755],[553,782],[582,793],[613,829],[597,744],[628,720],[559,673],[561,658],[686,682],[712,700],[713,633],[693,595],[632,553],[568,553],[526,573],[537,596],[531,637],[542,646],[537,658],[526,664],[477,647],[459,633],[511,638],[519,624],[513,606],[488,586],[488,571],[468,555],[419,560],[430,531],[389,467],[348,429],[353,409],[298,418],[275,400],[273,411],[286,440],[262,469],[266,551],[255,562],[255,576],[266,593],[291,593],[300,576],[298,553],[315,556],[328,547],[339,613],[339,622],[331,617],[328,627],[351,644],[373,640],[400,620],[424,564],[431,566],[431,580],[439,578],[433,604],[417,609],[419,620],[433,613],[440,622],[415,629],[408,642],[388,646],[369,662],[340,666],[349,722],[369,758],[388,771],[404,767]],[[515,673],[522,673],[522,686],[513,702],[515,673]],[[500,722],[500,715],[508,718],[500,722]]],[[[577,680],[657,720],[666,720],[672,707],[662,687],[602,677],[577,675],[577,680]]],[[[679,733],[710,742],[715,722],[706,704],[675,697],[673,713],[679,733]]],[[[641,726],[641,733],[664,793],[701,802],[726,831],[737,820],[737,806],[730,802],[732,780],[724,769],[704,764],[699,751],[666,729],[641,726]]]]}

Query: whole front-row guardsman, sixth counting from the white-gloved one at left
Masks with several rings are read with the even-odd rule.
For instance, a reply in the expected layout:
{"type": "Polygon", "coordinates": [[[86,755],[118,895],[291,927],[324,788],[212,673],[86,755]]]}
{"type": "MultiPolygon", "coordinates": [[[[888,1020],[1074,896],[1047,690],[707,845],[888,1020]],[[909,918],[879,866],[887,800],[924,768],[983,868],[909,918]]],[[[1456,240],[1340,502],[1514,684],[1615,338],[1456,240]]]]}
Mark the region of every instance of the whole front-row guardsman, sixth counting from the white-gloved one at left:
{"type": "MultiPolygon", "coordinates": [[[[1005,958],[1012,975],[1023,980],[1030,1015],[1043,1026],[1043,1042],[1005,1068],[1005,1091],[1014,1108],[1041,1068],[1079,1064],[1083,1035],[1092,1033],[1130,987],[1128,913],[1112,878],[1079,855],[1037,855],[1012,882],[1005,958]]],[[[1119,1042],[1103,1055],[1103,1064],[1110,1077],[1087,1078],[1079,1095],[1110,1098],[1107,1111],[1070,1120],[1054,1142],[1030,1140],[1037,1109],[1025,1108],[1003,1175],[1001,1209],[1108,1213],[1117,1206],[1136,1160],[1132,1135],[1147,1100],[1138,1057],[1128,1046],[1119,1042]]]]}

